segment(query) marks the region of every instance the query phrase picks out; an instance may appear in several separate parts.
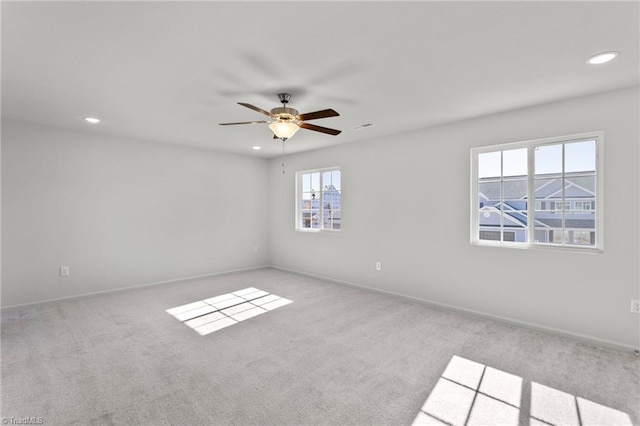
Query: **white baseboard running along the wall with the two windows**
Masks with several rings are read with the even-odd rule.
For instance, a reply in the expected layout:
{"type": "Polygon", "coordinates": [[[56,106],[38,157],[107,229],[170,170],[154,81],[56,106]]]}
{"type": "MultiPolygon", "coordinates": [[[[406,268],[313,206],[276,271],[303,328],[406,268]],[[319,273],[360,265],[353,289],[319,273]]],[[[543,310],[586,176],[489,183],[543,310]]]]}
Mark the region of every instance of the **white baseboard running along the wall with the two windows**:
{"type": "Polygon", "coordinates": [[[577,341],[580,341],[582,343],[588,343],[588,344],[591,344],[591,345],[602,346],[602,347],[613,349],[613,350],[616,350],[616,351],[631,352],[631,353],[635,353],[636,355],[638,355],[638,350],[640,349],[640,348],[637,348],[637,347],[633,347],[633,346],[627,345],[625,343],[620,343],[620,342],[616,342],[616,341],[612,341],[612,340],[600,339],[600,338],[597,338],[597,337],[594,337],[594,336],[589,336],[589,335],[580,334],[580,333],[573,333],[573,332],[566,331],[566,330],[561,330],[561,329],[557,329],[557,328],[553,328],[553,327],[546,327],[546,326],[543,326],[543,325],[538,325],[538,324],[534,324],[534,323],[530,323],[530,322],[526,322],[526,321],[520,321],[520,320],[516,320],[516,319],[513,319],[513,318],[509,318],[509,317],[503,317],[503,316],[500,316],[500,315],[489,314],[489,313],[486,313],[486,312],[475,311],[475,310],[472,310],[472,309],[460,308],[460,307],[457,307],[457,306],[448,305],[446,303],[435,302],[433,300],[422,299],[422,298],[419,298],[419,297],[408,296],[408,295],[402,294],[402,293],[395,293],[393,291],[382,290],[382,289],[375,288],[375,287],[369,287],[369,286],[364,285],[364,284],[358,284],[358,283],[354,283],[354,282],[350,282],[350,281],[338,280],[338,279],[334,279],[334,278],[330,278],[330,277],[325,277],[325,276],[322,276],[322,275],[310,274],[310,273],[307,273],[307,272],[298,271],[298,270],[295,270],[295,269],[283,268],[283,267],[280,267],[280,266],[273,266],[272,265],[271,268],[278,269],[280,271],[290,272],[290,273],[297,274],[297,275],[307,276],[307,277],[311,277],[311,278],[317,278],[317,279],[333,282],[333,283],[336,283],[336,284],[347,285],[347,286],[350,286],[350,287],[357,287],[357,288],[361,288],[361,289],[364,289],[364,290],[369,290],[369,291],[373,291],[373,292],[376,292],[376,293],[385,294],[385,295],[388,295],[388,296],[398,297],[398,298],[405,299],[405,300],[411,300],[413,302],[423,303],[423,304],[429,305],[429,306],[434,307],[434,308],[445,309],[445,310],[448,310],[448,311],[453,311],[453,312],[458,312],[458,313],[461,313],[461,314],[471,315],[471,316],[474,316],[474,317],[477,317],[477,318],[483,318],[483,319],[489,319],[489,320],[493,320],[493,321],[498,321],[498,322],[509,324],[509,325],[512,325],[512,326],[526,328],[526,329],[533,330],[533,331],[538,331],[538,332],[541,332],[541,333],[553,334],[553,335],[564,337],[564,338],[568,338],[568,339],[571,339],[571,340],[577,340],[577,341]]]}

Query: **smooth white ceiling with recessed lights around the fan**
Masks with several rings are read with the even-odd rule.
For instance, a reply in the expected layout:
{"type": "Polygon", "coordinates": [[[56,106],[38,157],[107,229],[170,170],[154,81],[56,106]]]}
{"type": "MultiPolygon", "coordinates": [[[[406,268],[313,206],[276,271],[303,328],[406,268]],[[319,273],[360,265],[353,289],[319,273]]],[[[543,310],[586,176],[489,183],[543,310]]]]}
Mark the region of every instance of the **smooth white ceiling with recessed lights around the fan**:
{"type": "Polygon", "coordinates": [[[268,110],[281,91],[343,131],[300,130],[291,153],[638,84],[638,2],[1,7],[3,118],[247,155],[282,146],[266,124],[218,123],[264,119],[236,102],[268,110]]]}

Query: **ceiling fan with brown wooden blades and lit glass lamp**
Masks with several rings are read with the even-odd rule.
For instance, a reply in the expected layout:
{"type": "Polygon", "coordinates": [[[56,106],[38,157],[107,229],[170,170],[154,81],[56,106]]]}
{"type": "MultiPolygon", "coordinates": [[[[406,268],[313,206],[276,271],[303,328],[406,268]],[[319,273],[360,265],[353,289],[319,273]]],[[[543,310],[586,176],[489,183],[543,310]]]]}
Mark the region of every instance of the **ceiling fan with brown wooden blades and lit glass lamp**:
{"type": "Polygon", "coordinates": [[[323,109],[321,111],[308,112],[306,114],[299,114],[298,110],[287,107],[291,95],[289,93],[278,93],[278,99],[282,102],[281,107],[273,108],[271,111],[265,111],[257,106],[247,104],[244,102],[238,102],[239,105],[247,107],[267,117],[273,119],[272,121],[260,120],[260,121],[242,121],[238,123],[220,123],[221,126],[231,126],[235,124],[260,124],[269,123],[269,128],[273,132],[274,139],[282,139],[283,141],[293,136],[298,129],[313,130],[314,132],[326,133],[328,135],[339,135],[342,131],[336,129],[330,129],[328,127],[317,126],[315,124],[309,124],[309,120],[317,120],[319,118],[336,117],[339,116],[333,109],[323,109]]]}

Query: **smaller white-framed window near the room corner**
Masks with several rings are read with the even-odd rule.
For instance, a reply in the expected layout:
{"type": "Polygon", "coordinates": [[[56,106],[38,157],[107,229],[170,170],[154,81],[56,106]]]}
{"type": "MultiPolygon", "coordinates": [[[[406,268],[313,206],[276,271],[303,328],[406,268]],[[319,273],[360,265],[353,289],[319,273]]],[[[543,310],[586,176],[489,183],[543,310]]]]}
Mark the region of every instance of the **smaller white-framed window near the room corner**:
{"type": "Polygon", "coordinates": [[[296,230],[341,229],[341,177],[338,168],[296,173],[296,230]]]}

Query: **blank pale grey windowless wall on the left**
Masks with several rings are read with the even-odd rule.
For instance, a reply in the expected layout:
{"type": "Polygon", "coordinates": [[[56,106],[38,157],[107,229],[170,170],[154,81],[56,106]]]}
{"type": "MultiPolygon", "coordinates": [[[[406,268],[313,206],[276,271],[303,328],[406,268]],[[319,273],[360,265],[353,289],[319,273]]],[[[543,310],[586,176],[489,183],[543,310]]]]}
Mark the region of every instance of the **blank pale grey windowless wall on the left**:
{"type": "Polygon", "coordinates": [[[3,121],[2,306],[266,265],[267,177],[264,159],[3,121]]]}

